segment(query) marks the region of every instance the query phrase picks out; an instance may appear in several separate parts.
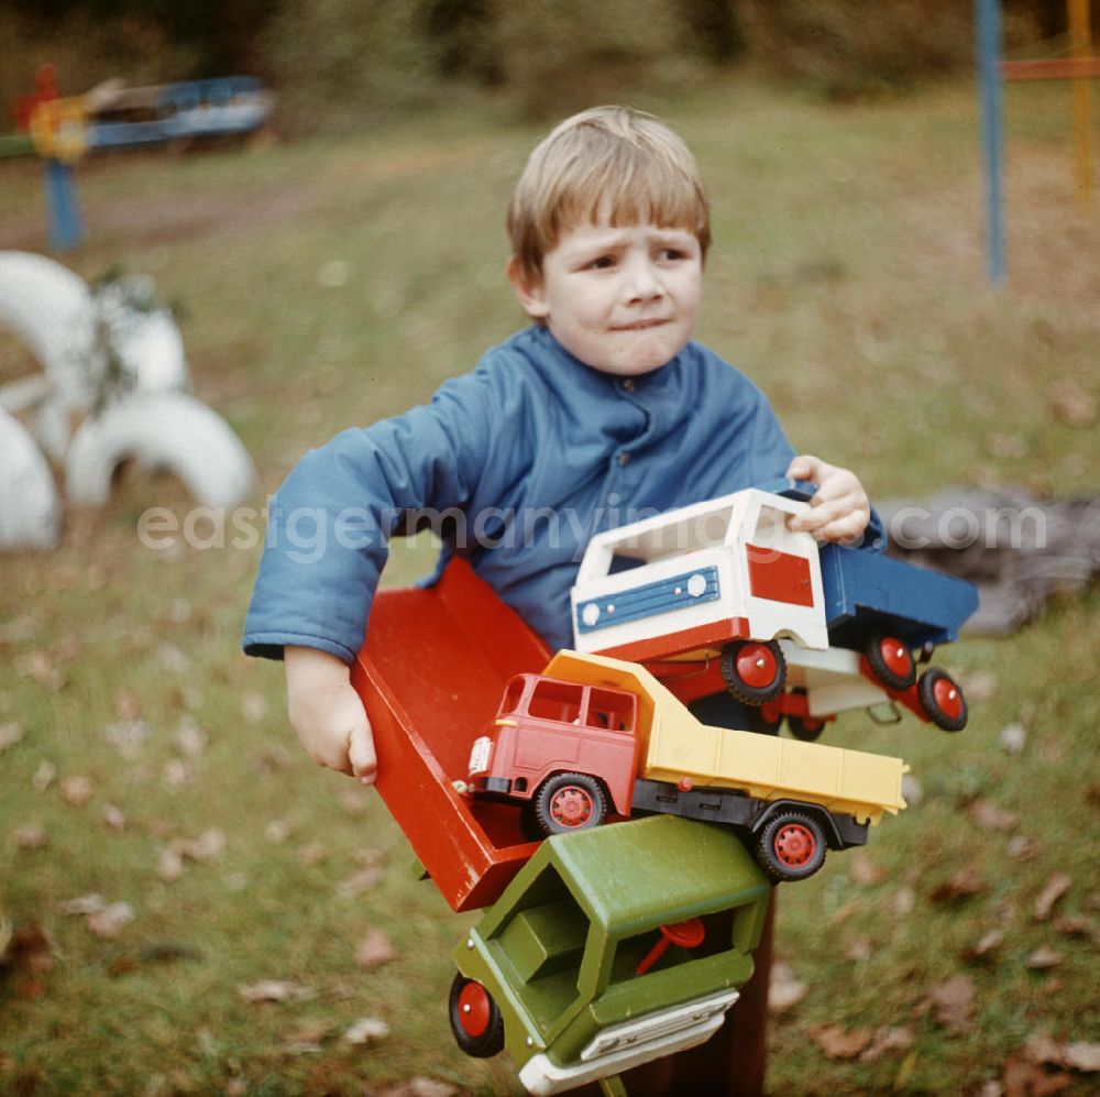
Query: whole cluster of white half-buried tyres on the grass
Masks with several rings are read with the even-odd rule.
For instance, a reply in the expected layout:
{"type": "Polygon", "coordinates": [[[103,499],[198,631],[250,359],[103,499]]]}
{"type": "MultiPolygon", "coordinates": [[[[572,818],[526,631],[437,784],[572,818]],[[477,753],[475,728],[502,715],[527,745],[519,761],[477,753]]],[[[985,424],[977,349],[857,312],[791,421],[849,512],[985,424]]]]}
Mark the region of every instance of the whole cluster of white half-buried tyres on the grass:
{"type": "Polygon", "coordinates": [[[79,505],[106,503],[116,469],[131,459],[174,472],[206,506],[233,506],[252,490],[240,439],[186,391],[183,339],[150,278],[91,290],[45,256],[0,252],[0,328],[42,366],[0,386],[0,450],[10,458],[0,462],[0,547],[56,540],[59,512],[43,453],[64,465],[66,495],[79,505]]]}

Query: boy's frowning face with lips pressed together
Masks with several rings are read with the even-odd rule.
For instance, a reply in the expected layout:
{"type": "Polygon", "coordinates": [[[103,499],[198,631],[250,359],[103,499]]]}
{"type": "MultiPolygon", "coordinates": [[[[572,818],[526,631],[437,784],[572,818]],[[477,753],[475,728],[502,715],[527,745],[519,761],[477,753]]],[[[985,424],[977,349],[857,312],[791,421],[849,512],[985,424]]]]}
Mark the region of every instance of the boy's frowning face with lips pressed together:
{"type": "Polygon", "coordinates": [[[698,241],[656,224],[587,224],[564,232],[542,277],[508,276],[528,316],[586,365],[631,377],[664,365],[695,327],[702,292],[698,241]]]}

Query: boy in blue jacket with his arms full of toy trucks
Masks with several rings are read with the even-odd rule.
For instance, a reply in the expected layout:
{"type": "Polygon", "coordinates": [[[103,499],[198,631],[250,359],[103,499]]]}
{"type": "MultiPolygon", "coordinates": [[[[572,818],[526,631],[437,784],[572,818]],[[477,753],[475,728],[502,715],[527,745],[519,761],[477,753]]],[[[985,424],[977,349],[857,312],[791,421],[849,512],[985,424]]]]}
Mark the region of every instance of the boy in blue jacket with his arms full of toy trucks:
{"type": "Polygon", "coordinates": [[[508,279],[532,326],[429,406],[308,453],[272,508],[245,651],[285,659],[302,745],[364,785],[374,745],[348,668],[410,512],[448,516],[441,562],[469,558],[551,650],[571,643],[586,539],[645,509],[790,475],[818,485],[801,528],[856,540],[870,518],[851,472],[794,457],[762,394],[691,341],[707,200],[661,123],[622,107],[562,122],[531,154],[507,226],[508,279]],[[327,547],[309,559],[295,550],[302,515],[327,547]]]}

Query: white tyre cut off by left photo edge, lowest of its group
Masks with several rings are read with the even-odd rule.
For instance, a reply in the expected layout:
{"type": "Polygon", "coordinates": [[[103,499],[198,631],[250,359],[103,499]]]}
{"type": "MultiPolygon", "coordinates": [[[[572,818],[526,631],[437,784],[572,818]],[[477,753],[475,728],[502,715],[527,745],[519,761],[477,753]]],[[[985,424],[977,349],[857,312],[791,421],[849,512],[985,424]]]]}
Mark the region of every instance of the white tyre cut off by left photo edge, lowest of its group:
{"type": "Polygon", "coordinates": [[[0,550],[55,548],[61,528],[57,489],[42,450],[0,408],[0,550]]]}

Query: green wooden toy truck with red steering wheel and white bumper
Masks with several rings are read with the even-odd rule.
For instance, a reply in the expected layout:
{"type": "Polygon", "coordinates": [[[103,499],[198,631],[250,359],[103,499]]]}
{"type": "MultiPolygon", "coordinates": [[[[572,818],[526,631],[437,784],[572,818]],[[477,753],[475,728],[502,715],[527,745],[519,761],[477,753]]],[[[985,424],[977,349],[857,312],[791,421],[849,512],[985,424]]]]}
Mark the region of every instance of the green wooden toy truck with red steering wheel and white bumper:
{"type": "Polygon", "coordinates": [[[622,1093],[618,1072],[722,1023],[770,890],[726,827],[661,815],[552,837],[454,952],[455,1041],[506,1047],[534,1094],[622,1093]]]}

